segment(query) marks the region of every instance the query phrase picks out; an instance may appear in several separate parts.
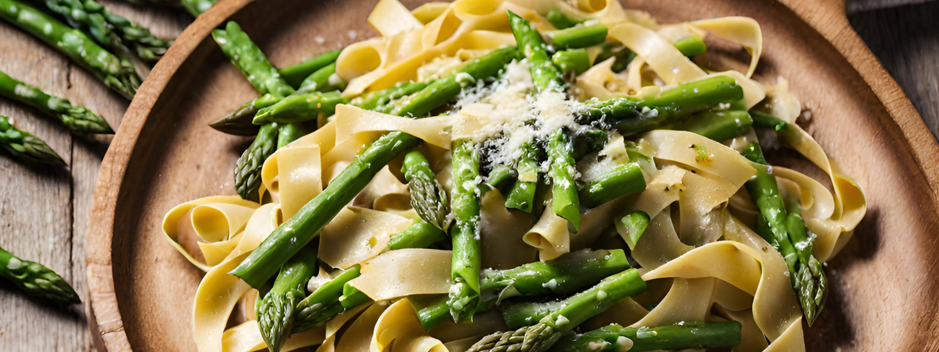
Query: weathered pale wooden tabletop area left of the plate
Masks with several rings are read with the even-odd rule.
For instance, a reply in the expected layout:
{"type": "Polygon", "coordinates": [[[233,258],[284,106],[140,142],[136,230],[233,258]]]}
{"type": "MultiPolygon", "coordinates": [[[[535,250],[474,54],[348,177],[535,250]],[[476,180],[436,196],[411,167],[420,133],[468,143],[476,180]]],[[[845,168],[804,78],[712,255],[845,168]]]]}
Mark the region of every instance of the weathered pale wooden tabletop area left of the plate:
{"type": "MultiPolygon", "coordinates": [[[[177,11],[131,8],[102,0],[115,13],[146,23],[158,35],[176,36],[191,20],[177,11]]],[[[85,105],[119,124],[128,101],[84,69],[15,27],[0,23],[0,70],[56,96],[85,105]]],[[[69,281],[85,305],[63,309],[25,298],[0,281],[0,351],[92,351],[87,318],[85,238],[92,193],[110,136],[73,137],[54,118],[0,98],[0,115],[46,141],[69,167],[28,164],[0,153],[0,247],[53,268],[69,281]]]]}

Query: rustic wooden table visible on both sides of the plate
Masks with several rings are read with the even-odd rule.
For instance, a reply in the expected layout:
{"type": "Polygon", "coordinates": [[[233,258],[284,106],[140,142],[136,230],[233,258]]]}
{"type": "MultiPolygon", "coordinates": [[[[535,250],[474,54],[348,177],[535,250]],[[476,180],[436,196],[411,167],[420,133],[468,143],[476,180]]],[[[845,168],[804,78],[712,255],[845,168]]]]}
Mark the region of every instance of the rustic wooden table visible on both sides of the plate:
{"type": "MultiPolygon", "coordinates": [[[[862,1],[862,0],[856,0],[862,1]]],[[[870,49],[913,99],[933,134],[939,132],[939,2],[870,9],[895,0],[863,0],[849,16],[870,49]],[[863,11],[861,11],[863,10],[863,11]]],[[[146,24],[161,36],[176,36],[191,22],[172,9],[134,8],[100,0],[115,13],[146,24]]],[[[116,128],[128,101],[107,90],[61,54],[6,23],[0,23],[0,70],[104,115],[116,128]]],[[[0,115],[44,139],[70,165],[36,167],[0,155],[0,247],[37,260],[68,280],[87,301],[85,237],[92,192],[110,138],[72,137],[33,109],[0,99],[0,115]]],[[[92,351],[88,313],[63,310],[24,298],[0,282],[0,351],[92,351]]]]}

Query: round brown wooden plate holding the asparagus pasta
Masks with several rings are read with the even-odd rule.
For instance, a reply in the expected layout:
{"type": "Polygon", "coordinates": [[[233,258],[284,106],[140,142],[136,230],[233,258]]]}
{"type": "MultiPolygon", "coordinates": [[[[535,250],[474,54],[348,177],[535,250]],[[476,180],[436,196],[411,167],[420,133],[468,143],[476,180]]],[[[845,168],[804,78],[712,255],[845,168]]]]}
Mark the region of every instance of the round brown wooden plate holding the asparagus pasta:
{"type": "MultiPolygon", "coordinates": [[[[365,18],[375,2],[223,0],[153,69],[104,158],[95,193],[87,273],[102,351],[195,350],[192,295],[202,273],[166,243],[160,224],[178,203],[234,194],[232,165],[247,140],[206,124],[256,95],[209,31],[239,21],[274,64],[285,65],[374,36],[365,18]]],[[[758,79],[790,80],[814,116],[808,130],[867,191],[867,217],[827,268],[831,294],[806,330],[808,349],[939,350],[939,146],[854,34],[844,0],[625,3],[663,22],[759,21],[758,79]]]]}

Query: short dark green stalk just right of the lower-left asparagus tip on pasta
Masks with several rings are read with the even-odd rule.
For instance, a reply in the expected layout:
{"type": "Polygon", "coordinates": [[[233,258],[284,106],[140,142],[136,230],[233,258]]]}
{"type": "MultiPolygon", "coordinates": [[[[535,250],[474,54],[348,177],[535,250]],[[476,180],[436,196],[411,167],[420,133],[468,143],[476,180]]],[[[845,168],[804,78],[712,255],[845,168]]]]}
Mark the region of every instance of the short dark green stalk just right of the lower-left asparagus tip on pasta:
{"type": "Polygon", "coordinates": [[[359,277],[361,270],[362,267],[359,265],[348,268],[328,283],[323,283],[310,296],[303,298],[297,304],[298,314],[294,321],[293,332],[318,327],[333,316],[343,313],[345,308],[339,302],[339,298],[343,296],[343,287],[352,279],[359,277]]]}

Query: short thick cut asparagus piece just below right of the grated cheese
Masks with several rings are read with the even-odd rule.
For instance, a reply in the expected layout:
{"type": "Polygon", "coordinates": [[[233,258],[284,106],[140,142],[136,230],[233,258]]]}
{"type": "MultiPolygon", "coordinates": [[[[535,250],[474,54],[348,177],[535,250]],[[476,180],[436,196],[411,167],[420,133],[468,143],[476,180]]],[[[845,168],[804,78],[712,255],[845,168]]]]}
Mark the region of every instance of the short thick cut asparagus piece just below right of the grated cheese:
{"type": "Polygon", "coordinates": [[[645,190],[645,177],[639,162],[628,162],[587,183],[579,192],[582,205],[588,209],[626,194],[645,190]]]}

